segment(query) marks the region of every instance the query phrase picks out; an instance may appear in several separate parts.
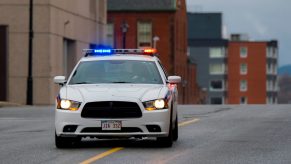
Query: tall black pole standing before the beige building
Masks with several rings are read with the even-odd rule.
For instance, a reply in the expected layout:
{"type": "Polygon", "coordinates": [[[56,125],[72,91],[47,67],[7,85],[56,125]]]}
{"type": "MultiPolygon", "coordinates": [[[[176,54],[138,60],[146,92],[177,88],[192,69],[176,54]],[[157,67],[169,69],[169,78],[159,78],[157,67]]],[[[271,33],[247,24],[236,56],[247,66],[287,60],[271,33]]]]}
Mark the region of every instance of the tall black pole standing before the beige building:
{"type": "Polygon", "coordinates": [[[33,41],[33,0],[29,0],[29,42],[28,42],[28,77],[26,104],[33,104],[33,79],[32,79],[32,41],[33,41]]]}

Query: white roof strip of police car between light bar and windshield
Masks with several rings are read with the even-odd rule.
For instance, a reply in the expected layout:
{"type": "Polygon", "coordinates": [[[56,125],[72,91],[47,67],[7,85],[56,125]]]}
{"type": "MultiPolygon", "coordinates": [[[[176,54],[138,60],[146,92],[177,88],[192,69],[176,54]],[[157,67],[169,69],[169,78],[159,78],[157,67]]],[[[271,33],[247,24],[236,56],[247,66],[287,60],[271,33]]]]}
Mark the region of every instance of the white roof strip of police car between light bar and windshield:
{"type": "Polygon", "coordinates": [[[140,55],[140,54],[114,54],[114,55],[96,55],[82,57],[82,61],[97,61],[97,60],[141,60],[141,61],[157,61],[156,56],[140,55]]]}

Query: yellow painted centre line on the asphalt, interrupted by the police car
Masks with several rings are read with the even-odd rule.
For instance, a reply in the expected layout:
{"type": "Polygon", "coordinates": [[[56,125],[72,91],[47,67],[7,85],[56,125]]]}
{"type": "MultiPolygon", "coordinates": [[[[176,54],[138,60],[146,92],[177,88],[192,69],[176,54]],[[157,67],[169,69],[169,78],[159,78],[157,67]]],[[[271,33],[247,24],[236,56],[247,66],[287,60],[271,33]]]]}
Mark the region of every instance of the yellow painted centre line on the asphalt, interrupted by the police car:
{"type": "MultiPolygon", "coordinates": [[[[200,120],[200,119],[195,118],[195,119],[192,119],[192,120],[188,120],[188,121],[180,122],[180,123],[178,124],[178,126],[186,126],[186,125],[189,125],[189,124],[191,124],[191,123],[197,122],[197,121],[199,121],[199,120],[200,120]]],[[[106,151],[106,152],[103,152],[103,153],[98,154],[98,155],[96,155],[96,156],[94,156],[94,157],[92,157],[92,158],[89,158],[89,159],[87,159],[87,160],[81,162],[80,164],[90,164],[90,163],[95,162],[95,161],[97,161],[97,160],[99,160],[99,159],[101,159],[101,158],[104,158],[104,157],[106,157],[106,156],[109,156],[110,154],[113,154],[113,153],[115,153],[115,152],[118,152],[118,151],[120,151],[120,150],[122,150],[122,149],[124,149],[124,147],[116,147],[116,148],[112,148],[112,149],[110,149],[110,150],[108,150],[108,151],[106,151]]]]}

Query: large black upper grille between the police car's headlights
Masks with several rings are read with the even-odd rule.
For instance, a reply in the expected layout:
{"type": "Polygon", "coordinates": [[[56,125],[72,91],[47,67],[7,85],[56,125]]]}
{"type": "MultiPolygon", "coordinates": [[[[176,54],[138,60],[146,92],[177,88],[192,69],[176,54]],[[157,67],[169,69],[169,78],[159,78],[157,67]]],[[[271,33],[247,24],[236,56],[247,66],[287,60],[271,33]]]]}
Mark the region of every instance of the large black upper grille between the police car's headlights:
{"type": "Polygon", "coordinates": [[[83,118],[139,118],[142,116],[137,103],[123,101],[101,101],[85,104],[83,118]]]}

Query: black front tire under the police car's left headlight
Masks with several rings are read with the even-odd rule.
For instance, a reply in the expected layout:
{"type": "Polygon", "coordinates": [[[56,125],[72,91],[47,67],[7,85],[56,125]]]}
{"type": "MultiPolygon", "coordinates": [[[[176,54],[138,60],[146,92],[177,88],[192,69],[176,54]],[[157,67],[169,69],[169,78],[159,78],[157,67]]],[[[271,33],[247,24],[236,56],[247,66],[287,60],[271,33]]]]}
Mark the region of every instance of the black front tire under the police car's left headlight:
{"type": "Polygon", "coordinates": [[[55,144],[59,149],[76,147],[80,141],[80,137],[61,137],[55,134],[55,144]]]}

